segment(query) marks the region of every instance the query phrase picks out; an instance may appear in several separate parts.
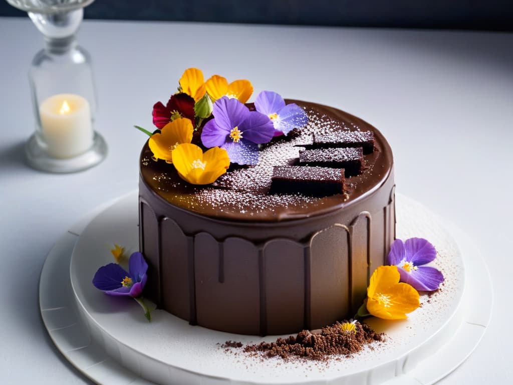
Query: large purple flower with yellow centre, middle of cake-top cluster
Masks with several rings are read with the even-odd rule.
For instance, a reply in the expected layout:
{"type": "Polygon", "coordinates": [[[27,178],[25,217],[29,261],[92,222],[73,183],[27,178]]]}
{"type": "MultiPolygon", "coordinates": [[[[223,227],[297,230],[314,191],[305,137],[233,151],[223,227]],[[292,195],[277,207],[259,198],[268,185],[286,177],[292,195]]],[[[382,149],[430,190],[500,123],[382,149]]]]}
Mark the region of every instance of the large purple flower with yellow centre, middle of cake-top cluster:
{"type": "Polygon", "coordinates": [[[226,96],[214,103],[212,114],[214,119],[205,124],[201,133],[203,145],[224,148],[230,162],[257,164],[258,145],[269,142],[274,135],[271,120],[226,96]]]}

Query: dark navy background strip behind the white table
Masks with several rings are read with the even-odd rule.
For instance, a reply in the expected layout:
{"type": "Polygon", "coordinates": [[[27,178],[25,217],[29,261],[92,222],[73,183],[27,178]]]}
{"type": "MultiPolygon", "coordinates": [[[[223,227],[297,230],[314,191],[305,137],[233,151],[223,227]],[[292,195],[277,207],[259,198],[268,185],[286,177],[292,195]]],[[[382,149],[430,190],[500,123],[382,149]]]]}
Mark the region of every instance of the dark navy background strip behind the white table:
{"type": "MultiPolygon", "coordinates": [[[[26,13],[0,0],[0,16],[26,13]]],[[[513,31],[513,0],[96,0],[85,17],[513,31]]]]}

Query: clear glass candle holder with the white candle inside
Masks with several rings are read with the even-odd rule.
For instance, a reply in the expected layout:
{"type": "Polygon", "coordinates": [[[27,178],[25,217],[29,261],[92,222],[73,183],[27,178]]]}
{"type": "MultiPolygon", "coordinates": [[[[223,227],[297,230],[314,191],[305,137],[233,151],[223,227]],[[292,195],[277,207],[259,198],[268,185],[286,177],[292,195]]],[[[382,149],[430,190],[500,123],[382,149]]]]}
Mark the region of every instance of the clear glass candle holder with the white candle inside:
{"type": "Polygon", "coordinates": [[[83,7],[92,0],[7,0],[28,11],[44,35],[29,71],[35,132],[25,146],[28,163],[50,172],[74,172],[100,163],[107,145],[93,130],[96,92],[89,53],[76,44],[83,7]]]}

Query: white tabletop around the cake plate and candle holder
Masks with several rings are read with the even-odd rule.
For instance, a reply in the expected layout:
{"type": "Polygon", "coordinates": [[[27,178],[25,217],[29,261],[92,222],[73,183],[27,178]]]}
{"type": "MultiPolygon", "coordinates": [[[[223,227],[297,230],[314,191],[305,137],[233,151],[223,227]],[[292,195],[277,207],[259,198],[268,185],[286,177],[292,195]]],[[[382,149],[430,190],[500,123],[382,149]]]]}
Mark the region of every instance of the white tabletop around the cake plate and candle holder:
{"type": "Polygon", "coordinates": [[[491,275],[488,331],[441,383],[503,384],[513,377],[513,34],[85,21],[78,41],[92,55],[95,129],[109,155],[70,175],[24,163],[34,129],[27,71],[42,36],[28,18],[1,17],[0,36],[1,383],[89,383],[43,326],[41,268],[74,222],[137,187],[145,135],[132,126],[151,129],[153,104],[167,102],[193,66],[206,76],[247,78],[254,95],[275,90],[378,127],[393,149],[397,191],[475,239],[491,275]]]}

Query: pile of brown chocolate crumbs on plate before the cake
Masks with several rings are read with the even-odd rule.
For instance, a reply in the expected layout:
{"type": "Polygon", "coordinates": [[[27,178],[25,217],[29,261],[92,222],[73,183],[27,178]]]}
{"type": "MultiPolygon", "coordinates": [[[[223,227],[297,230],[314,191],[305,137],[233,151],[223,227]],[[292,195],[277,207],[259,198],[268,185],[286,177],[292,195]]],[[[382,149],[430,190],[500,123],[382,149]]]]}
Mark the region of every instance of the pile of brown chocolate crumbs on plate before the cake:
{"type": "Polygon", "coordinates": [[[374,332],[365,323],[356,322],[354,326],[354,331],[345,331],[342,329],[342,323],[336,322],[323,329],[303,330],[295,337],[289,336],[278,338],[274,342],[246,345],[244,352],[262,354],[269,358],[279,356],[285,360],[304,358],[324,361],[334,355],[350,356],[360,352],[365,345],[383,341],[385,338],[383,333],[374,332]]]}

